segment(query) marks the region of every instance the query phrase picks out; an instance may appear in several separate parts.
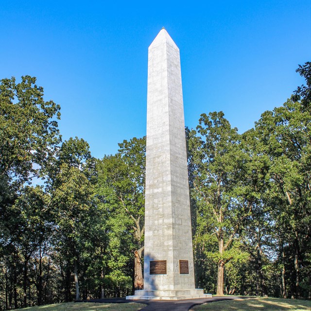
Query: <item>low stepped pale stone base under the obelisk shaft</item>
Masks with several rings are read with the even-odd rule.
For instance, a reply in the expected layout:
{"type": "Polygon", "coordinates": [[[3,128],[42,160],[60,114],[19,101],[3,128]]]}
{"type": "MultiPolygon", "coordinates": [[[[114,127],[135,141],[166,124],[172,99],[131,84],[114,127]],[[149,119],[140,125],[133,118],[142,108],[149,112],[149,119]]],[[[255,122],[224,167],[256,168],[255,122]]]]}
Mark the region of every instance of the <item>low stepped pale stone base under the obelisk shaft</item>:
{"type": "Polygon", "coordinates": [[[182,300],[182,299],[197,299],[211,298],[211,294],[204,294],[202,289],[189,290],[140,290],[135,291],[133,296],[126,296],[126,299],[131,300],[182,300]]]}

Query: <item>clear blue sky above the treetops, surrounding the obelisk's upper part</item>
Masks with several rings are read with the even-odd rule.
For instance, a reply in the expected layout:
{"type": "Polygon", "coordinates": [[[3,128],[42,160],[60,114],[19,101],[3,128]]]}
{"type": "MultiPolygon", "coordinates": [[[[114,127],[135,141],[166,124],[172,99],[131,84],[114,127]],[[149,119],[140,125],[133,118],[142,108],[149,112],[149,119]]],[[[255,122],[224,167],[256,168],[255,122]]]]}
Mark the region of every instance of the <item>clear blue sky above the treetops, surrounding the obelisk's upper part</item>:
{"type": "Polygon", "coordinates": [[[146,133],[148,46],[163,26],[180,49],[189,127],[223,110],[246,131],[311,61],[310,0],[0,0],[0,78],[37,77],[61,105],[63,139],[101,158],[146,133]]]}

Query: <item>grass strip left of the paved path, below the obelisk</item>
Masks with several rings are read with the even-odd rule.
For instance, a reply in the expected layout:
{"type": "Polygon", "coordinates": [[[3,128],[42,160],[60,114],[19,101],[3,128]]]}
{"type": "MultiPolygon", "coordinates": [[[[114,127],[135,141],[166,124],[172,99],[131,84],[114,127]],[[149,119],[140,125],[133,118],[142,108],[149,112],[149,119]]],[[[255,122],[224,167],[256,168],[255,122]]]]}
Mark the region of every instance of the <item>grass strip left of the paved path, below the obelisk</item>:
{"type": "Polygon", "coordinates": [[[91,302],[69,302],[40,307],[19,309],[23,311],[138,311],[146,305],[141,303],[91,303],[91,302]]]}

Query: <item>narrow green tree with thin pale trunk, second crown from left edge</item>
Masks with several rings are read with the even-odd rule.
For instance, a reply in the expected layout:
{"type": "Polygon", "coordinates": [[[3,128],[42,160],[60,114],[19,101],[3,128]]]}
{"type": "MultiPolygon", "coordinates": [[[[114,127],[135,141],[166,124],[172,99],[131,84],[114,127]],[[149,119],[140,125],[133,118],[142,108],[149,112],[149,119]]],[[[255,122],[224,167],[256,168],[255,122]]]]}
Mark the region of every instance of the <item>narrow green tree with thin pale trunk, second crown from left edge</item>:
{"type": "Polygon", "coordinates": [[[76,288],[75,299],[80,297],[79,256],[85,247],[87,232],[94,216],[94,159],[83,139],[69,138],[58,154],[56,173],[52,182],[52,205],[59,251],[67,261],[66,300],[69,301],[69,269],[73,266],[76,288]]]}

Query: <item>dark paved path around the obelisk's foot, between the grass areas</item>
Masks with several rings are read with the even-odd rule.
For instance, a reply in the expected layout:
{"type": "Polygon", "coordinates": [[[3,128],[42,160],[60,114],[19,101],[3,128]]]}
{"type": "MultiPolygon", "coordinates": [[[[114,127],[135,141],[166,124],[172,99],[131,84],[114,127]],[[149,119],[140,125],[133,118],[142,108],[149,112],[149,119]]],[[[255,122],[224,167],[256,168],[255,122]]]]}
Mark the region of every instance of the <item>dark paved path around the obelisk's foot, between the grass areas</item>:
{"type": "Polygon", "coordinates": [[[185,299],[185,300],[126,300],[125,298],[107,298],[107,299],[91,299],[91,300],[80,300],[78,302],[105,302],[105,303],[128,303],[137,302],[144,303],[147,306],[141,311],[188,311],[195,305],[201,305],[207,302],[221,301],[221,300],[233,300],[241,299],[245,297],[239,296],[224,296],[213,298],[201,298],[201,299],[185,299]]]}

